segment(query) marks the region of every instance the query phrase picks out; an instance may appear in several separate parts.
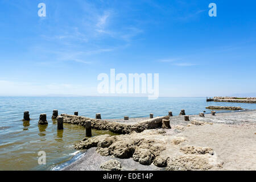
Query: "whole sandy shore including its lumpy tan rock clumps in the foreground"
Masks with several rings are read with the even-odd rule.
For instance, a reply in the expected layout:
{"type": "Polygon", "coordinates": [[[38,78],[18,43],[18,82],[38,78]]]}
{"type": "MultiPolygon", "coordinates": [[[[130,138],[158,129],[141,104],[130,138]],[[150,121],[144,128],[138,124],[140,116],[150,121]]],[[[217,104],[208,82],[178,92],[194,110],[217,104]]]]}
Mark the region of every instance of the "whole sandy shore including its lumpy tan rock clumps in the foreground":
{"type": "MultiPolygon", "coordinates": [[[[131,123],[138,125],[135,118],[131,123]]],[[[189,121],[179,115],[170,117],[170,125],[81,141],[77,148],[94,146],[63,170],[102,170],[110,159],[121,170],[256,170],[255,110],[189,115],[189,121]]]]}

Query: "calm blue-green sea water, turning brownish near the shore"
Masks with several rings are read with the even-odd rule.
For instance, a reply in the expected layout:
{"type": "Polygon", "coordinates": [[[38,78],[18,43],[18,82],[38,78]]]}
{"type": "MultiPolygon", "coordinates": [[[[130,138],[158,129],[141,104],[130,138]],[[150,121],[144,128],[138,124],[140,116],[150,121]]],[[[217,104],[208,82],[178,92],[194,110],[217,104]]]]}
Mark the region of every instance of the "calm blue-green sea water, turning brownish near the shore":
{"type": "MultiPolygon", "coordinates": [[[[169,97],[147,100],[147,97],[0,97],[0,170],[57,170],[78,159],[82,152],[73,145],[85,137],[84,127],[64,124],[57,131],[52,121],[52,110],[59,114],[104,118],[148,117],[167,115],[172,111],[178,115],[181,109],[186,114],[199,114],[206,106],[240,106],[256,109],[256,104],[206,102],[203,97],[169,97]],[[30,111],[30,122],[23,122],[23,111],[30,111]],[[39,115],[47,114],[48,126],[38,126],[39,115]],[[46,165],[38,164],[38,152],[46,152],[46,165]]],[[[220,111],[218,111],[220,112],[220,111]]],[[[93,130],[93,136],[109,131],[93,130]]],[[[113,134],[113,133],[109,133],[113,134]]]]}

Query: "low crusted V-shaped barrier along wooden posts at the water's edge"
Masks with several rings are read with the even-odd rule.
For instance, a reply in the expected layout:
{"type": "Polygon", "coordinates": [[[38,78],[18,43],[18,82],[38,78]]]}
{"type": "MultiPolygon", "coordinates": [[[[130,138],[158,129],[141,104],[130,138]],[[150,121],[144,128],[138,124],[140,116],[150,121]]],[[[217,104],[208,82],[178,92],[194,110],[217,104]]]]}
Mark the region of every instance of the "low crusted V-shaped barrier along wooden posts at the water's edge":
{"type": "Polygon", "coordinates": [[[85,127],[85,121],[91,121],[92,129],[97,130],[109,130],[117,134],[129,134],[131,129],[138,133],[148,130],[162,127],[162,119],[169,119],[169,116],[156,117],[152,119],[146,119],[142,122],[114,122],[104,119],[93,119],[76,115],[61,114],[64,123],[71,123],[74,125],[81,125],[85,127]]]}

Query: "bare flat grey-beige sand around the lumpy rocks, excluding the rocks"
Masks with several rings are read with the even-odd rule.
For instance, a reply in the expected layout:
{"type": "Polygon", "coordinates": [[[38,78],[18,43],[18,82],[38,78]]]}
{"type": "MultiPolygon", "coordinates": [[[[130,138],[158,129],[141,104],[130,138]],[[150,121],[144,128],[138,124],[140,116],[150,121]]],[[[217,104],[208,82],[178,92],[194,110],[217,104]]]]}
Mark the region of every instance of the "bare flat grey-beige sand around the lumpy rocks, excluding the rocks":
{"type": "MultiPolygon", "coordinates": [[[[161,155],[167,155],[170,158],[180,155],[191,156],[180,151],[184,146],[210,147],[214,155],[204,156],[213,166],[216,164],[210,170],[256,170],[256,111],[216,113],[215,116],[205,114],[205,117],[189,115],[189,119],[190,121],[184,121],[183,115],[170,117],[172,129],[145,130],[139,134],[132,133],[130,137],[139,136],[163,142],[166,150],[162,151],[161,155]],[[193,125],[191,121],[194,120],[207,123],[193,125]],[[170,141],[177,138],[183,138],[184,141],[171,144],[170,141]]],[[[140,122],[141,119],[138,121],[140,122]]],[[[118,121],[115,120],[115,122],[118,121]]],[[[63,170],[100,170],[101,163],[113,158],[113,156],[101,156],[94,147],[86,151],[81,159],[63,170]]],[[[133,158],[114,159],[121,162],[122,170],[166,169],[156,167],[154,164],[144,166],[135,162],[133,158]]]]}

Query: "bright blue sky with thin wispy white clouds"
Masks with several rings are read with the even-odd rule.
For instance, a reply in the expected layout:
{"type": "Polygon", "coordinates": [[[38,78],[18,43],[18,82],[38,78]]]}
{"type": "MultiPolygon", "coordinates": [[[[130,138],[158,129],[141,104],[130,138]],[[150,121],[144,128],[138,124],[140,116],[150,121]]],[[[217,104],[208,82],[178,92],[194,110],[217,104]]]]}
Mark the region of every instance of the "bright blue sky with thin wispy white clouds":
{"type": "Polygon", "coordinates": [[[255,1],[0,0],[0,95],[97,95],[100,73],[159,73],[159,95],[256,93],[255,1]],[[38,4],[46,4],[46,17],[38,4]],[[209,3],[217,17],[210,17],[209,3]]]}

